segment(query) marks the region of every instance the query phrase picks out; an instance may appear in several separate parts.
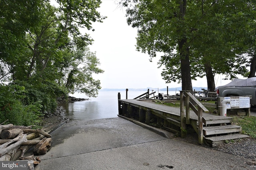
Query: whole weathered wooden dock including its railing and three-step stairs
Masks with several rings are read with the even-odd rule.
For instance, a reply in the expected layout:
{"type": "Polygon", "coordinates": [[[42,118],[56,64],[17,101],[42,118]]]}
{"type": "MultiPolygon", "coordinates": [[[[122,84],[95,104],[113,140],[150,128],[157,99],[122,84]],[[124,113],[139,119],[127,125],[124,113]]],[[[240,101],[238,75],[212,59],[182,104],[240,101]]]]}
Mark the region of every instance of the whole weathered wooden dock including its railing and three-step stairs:
{"type": "Polygon", "coordinates": [[[248,137],[240,134],[240,126],[232,125],[232,117],[207,113],[208,110],[190,92],[181,91],[181,94],[184,97],[180,99],[180,106],[185,106],[185,110],[184,107],[170,107],[146,100],[119,99],[118,114],[182,137],[186,136],[187,126],[191,125],[198,134],[198,142],[212,147],[226,140],[248,137]]]}

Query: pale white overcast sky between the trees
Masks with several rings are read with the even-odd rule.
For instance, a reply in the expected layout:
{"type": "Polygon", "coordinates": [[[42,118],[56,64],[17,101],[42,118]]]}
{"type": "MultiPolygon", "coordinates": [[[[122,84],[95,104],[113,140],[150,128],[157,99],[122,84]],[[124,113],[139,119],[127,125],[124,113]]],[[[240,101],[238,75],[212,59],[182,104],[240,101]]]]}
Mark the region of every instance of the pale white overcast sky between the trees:
{"type": "MultiPolygon", "coordinates": [[[[169,88],[180,87],[177,82],[165,83],[158,68],[159,58],[152,62],[147,54],[136,51],[137,29],[126,23],[125,10],[118,8],[114,0],[102,0],[98,11],[107,16],[103,23],[93,23],[95,31],[87,31],[94,39],[90,50],[96,52],[99,66],[105,72],[95,75],[102,88],[169,88]]],[[[224,76],[222,76],[224,78],[224,76]]],[[[216,76],[217,86],[230,81],[216,76]]],[[[207,87],[206,78],[192,81],[193,87],[207,87]]]]}

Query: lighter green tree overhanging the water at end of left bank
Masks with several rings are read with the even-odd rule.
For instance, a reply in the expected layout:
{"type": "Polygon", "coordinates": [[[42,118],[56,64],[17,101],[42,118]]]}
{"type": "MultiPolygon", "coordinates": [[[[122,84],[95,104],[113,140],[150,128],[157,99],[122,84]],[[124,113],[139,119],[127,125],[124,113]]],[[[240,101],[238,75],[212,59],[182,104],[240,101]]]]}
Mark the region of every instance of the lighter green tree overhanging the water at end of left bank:
{"type": "Polygon", "coordinates": [[[60,74],[63,75],[58,81],[60,85],[64,85],[70,93],[81,92],[89,97],[97,96],[100,80],[94,80],[92,75],[104,71],[98,68],[100,62],[88,47],[70,51],[58,64],[61,68],[60,74]]]}

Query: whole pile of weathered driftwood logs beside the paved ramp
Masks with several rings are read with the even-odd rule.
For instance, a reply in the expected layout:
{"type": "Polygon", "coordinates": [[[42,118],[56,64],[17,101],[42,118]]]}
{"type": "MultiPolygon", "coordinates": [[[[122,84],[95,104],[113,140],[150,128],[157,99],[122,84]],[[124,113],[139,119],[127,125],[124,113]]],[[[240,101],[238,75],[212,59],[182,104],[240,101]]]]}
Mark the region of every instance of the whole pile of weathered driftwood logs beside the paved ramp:
{"type": "Polygon", "coordinates": [[[0,161],[30,160],[29,170],[34,169],[34,165],[40,163],[40,159],[34,158],[33,155],[24,157],[24,152],[32,145],[36,145],[34,152],[38,155],[45,154],[50,149],[52,139],[49,132],[31,129],[32,127],[0,125],[0,161]]]}

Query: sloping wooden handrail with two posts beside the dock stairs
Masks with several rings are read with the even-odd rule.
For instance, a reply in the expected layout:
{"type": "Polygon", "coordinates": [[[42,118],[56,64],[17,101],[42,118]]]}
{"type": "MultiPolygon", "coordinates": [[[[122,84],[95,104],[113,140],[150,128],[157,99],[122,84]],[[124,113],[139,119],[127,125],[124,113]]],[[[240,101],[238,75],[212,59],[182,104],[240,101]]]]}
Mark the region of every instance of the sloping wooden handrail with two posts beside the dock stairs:
{"type": "Polygon", "coordinates": [[[190,124],[190,108],[198,116],[198,142],[202,145],[204,143],[203,112],[208,113],[209,111],[191,94],[190,91],[180,91],[181,137],[186,136],[186,124],[190,124]],[[184,112],[184,106],[186,109],[186,117],[184,112]]]}

